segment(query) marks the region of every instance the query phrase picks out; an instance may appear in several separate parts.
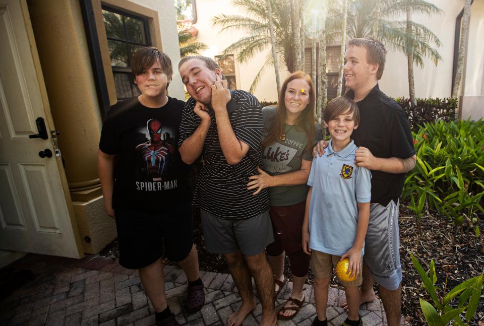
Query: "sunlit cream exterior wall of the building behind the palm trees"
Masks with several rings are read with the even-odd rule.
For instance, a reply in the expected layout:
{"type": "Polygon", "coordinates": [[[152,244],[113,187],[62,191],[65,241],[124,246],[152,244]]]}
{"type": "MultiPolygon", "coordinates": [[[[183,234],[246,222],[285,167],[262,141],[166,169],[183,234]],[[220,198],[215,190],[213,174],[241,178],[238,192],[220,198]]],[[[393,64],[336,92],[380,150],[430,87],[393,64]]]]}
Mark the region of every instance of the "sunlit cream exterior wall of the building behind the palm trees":
{"type": "MultiPolygon", "coordinates": [[[[455,19],[462,10],[464,0],[429,0],[442,9],[442,15],[432,17],[413,15],[413,20],[431,29],[441,40],[439,52],[443,59],[436,67],[430,59],[425,59],[425,67],[414,67],[415,93],[417,97],[449,97],[452,86],[452,66],[454,57],[455,19]]],[[[480,42],[484,35],[484,1],[475,0],[471,7],[470,35],[465,67],[465,96],[484,95],[484,43],[480,42]]],[[[244,15],[239,8],[233,7],[228,0],[197,0],[199,30],[198,40],[212,47],[207,56],[220,54],[229,44],[244,34],[242,32],[219,33],[219,28],[211,25],[210,19],[220,14],[244,15]]],[[[404,17],[395,18],[404,19],[404,17]]],[[[267,49],[269,51],[269,49],[267,49]]],[[[240,89],[248,90],[254,77],[264,62],[265,54],[258,54],[251,62],[237,62],[237,82],[240,89]]],[[[390,96],[408,97],[408,73],[405,55],[388,46],[385,73],[380,81],[380,88],[390,96]]],[[[287,76],[287,71],[281,72],[281,82],[287,76]]],[[[259,100],[276,100],[274,70],[267,69],[254,95],[259,100]]]]}

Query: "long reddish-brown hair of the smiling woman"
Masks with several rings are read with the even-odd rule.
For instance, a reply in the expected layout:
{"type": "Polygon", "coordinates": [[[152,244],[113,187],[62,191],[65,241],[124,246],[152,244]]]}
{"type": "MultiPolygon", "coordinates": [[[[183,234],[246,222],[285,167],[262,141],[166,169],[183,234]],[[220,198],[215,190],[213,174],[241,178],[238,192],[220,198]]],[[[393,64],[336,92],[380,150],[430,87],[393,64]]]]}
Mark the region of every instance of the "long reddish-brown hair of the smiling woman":
{"type": "Polygon", "coordinates": [[[270,126],[270,129],[266,130],[267,136],[262,142],[262,147],[266,147],[267,145],[276,142],[284,133],[284,122],[286,121],[287,117],[286,107],[284,105],[284,97],[287,90],[287,84],[295,79],[304,79],[310,88],[309,103],[297,117],[295,126],[296,128],[302,128],[306,132],[306,137],[308,138],[306,149],[313,148],[314,134],[316,133],[316,127],[314,125],[316,122],[314,115],[315,92],[311,77],[304,72],[292,73],[282,84],[281,91],[279,92],[279,103],[277,105],[276,116],[274,117],[274,121],[270,126]]]}

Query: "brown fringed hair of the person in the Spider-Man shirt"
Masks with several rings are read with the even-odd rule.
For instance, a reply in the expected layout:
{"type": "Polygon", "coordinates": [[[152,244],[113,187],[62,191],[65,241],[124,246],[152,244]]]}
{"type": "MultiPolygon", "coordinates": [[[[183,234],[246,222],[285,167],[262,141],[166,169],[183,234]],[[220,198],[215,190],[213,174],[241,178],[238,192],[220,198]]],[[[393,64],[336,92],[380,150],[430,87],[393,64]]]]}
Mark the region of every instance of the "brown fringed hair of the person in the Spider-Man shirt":
{"type": "Polygon", "coordinates": [[[138,76],[145,70],[153,66],[156,60],[160,60],[161,70],[171,80],[173,75],[173,66],[168,55],[158,50],[156,47],[142,47],[131,58],[131,71],[133,75],[138,76]]]}

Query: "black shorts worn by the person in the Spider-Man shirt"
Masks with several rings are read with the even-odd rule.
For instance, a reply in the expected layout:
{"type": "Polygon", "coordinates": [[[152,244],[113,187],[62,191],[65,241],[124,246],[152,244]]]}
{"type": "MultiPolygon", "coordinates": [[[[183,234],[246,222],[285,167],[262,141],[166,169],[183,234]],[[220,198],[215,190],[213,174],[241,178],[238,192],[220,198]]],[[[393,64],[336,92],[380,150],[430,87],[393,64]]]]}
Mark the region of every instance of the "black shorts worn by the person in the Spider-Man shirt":
{"type": "Polygon", "coordinates": [[[175,262],[185,259],[193,246],[191,201],[182,201],[162,212],[116,209],[119,265],[140,269],[164,256],[175,262]]]}

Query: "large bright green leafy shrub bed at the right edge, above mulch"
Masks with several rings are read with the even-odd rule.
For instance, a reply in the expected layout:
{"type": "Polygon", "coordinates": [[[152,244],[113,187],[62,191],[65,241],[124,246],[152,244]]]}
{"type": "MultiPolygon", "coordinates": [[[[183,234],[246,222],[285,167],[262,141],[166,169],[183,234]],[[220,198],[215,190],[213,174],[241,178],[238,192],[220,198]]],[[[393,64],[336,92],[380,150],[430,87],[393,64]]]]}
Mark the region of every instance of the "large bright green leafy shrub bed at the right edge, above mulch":
{"type": "Polygon", "coordinates": [[[476,214],[484,213],[484,122],[424,123],[413,134],[417,162],[402,193],[417,218],[435,209],[456,225],[465,223],[479,234],[476,214]]]}

